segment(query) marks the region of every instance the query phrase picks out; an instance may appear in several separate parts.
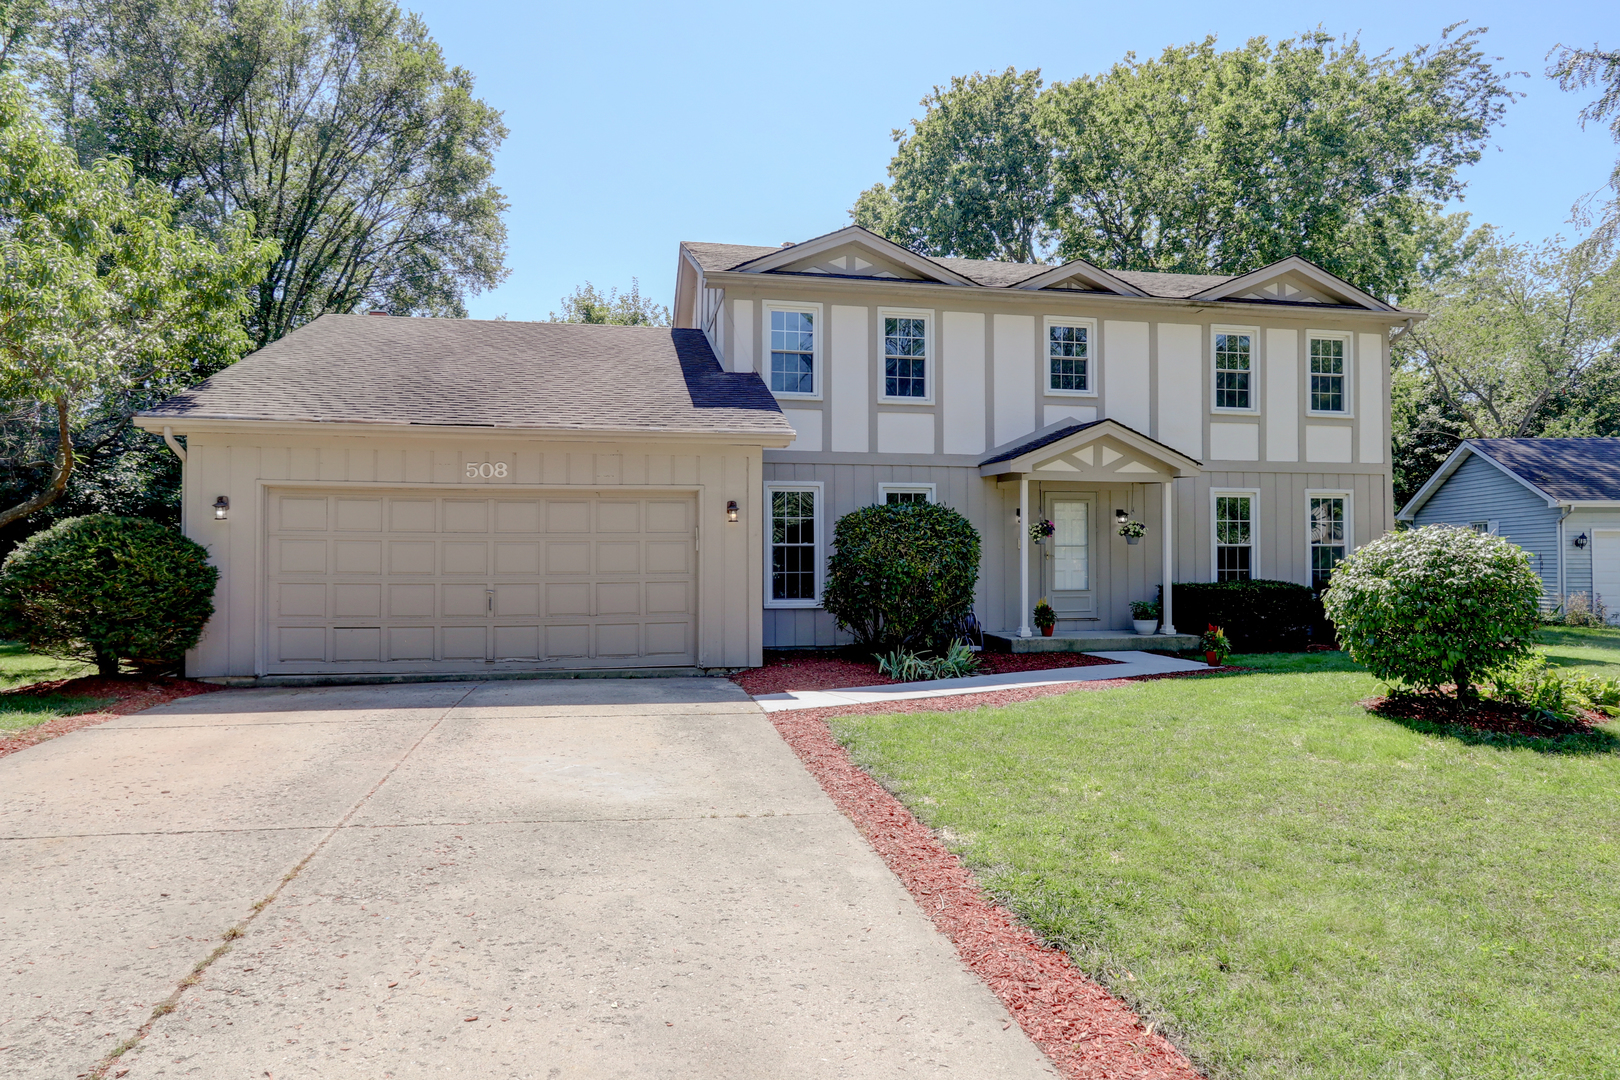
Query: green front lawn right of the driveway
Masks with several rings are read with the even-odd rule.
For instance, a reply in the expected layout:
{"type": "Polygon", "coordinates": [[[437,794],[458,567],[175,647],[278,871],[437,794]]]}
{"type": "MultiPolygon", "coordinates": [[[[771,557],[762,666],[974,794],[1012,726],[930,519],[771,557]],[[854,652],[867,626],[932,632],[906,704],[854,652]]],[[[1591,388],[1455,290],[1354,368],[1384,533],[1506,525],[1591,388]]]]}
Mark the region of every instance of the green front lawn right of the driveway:
{"type": "MultiPolygon", "coordinates": [[[[1544,648],[1620,674],[1620,631],[1544,648]]],[[[1212,1077],[1620,1077],[1620,724],[1447,732],[1338,653],[1233,662],[833,727],[1212,1077]]]]}

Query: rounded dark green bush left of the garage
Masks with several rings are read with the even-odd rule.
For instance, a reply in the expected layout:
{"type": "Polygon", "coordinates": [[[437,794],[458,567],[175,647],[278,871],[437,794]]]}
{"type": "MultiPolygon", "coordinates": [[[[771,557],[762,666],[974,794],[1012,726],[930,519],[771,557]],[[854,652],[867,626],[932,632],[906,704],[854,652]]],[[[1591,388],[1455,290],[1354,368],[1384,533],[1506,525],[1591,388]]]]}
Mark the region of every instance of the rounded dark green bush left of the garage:
{"type": "Polygon", "coordinates": [[[0,567],[0,635],[36,653],[177,665],[214,614],[219,570],[167,525],[92,513],[34,533],[0,567]]]}

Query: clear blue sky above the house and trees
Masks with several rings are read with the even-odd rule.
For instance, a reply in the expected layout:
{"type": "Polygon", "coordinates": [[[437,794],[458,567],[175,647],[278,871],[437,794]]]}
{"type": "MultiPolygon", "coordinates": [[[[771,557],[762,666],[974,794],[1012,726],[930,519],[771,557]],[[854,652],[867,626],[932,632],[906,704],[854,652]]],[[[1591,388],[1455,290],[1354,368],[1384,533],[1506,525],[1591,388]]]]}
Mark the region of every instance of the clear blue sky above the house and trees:
{"type": "MultiPolygon", "coordinates": [[[[849,222],[885,178],[889,131],[938,83],[1008,65],[1048,81],[1097,73],[1126,52],[1217,34],[1288,37],[1315,23],[1298,3],[520,3],[403,0],[510,136],[496,181],[512,274],[473,317],[544,319],[580,282],[674,293],[682,240],[778,244],[849,222]],[[1220,10],[1212,10],[1220,6],[1220,10]]],[[[1324,18],[1371,50],[1434,42],[1455,21],[1489,26],[1487,49],[1526,97],[1468,170],[1463,209],[1520,238],[1567,232],[1571,202],[1609,176],[1620,146],[1581,131],[1581,97],[1542,73],[1558,42],[1620,47],[1620,5],[1366,3],[1324,18]]]]}

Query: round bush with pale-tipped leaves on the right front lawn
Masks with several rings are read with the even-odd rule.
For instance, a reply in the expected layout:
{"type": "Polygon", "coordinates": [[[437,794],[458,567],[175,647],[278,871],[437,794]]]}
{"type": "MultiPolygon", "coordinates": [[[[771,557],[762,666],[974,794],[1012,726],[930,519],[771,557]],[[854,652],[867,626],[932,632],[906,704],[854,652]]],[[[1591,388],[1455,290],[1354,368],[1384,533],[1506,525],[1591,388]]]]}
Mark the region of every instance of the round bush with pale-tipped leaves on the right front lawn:
{"type": "Polygon", "coordinates": [[[1461,701],[1529,656],[1541,591],[1518,544],[1429,525],[1351,554],[1322,601],[1358,664],[1418,690],[1455,683],[1461,701]]]}

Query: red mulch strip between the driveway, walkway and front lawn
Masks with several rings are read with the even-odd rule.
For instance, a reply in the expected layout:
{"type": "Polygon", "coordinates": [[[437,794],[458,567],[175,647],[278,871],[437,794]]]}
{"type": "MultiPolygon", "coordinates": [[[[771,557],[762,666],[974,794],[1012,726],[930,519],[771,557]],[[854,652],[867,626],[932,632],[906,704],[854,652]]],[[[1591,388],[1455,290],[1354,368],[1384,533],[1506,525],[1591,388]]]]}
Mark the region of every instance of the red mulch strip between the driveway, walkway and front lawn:
{"type": "MultiPolygon", "coordinates": [[[[974,708],[996,696],[894,701],[859,711],[941,709],[954,701],[972,701],[962,708],[974,708]]],[[[987,899],[956,855],[897,798],[855,767],[818,716],[831,711],[773,712],[771,724],[1058,1070],[1071,1080],[1197,1080],[1200,1074],[1179,1049],[1082,975],[1068,955],[1040,944],[1009,912],[987,899]]]]}

